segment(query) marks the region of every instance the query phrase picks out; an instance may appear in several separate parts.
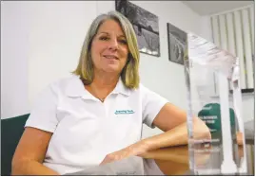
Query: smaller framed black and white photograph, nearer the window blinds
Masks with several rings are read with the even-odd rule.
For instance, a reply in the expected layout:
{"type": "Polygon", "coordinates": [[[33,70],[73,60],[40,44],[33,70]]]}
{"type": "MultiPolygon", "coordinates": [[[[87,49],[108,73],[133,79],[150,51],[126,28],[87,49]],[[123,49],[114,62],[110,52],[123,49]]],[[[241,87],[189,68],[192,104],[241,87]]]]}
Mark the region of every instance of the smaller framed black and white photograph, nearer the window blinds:
{"type": "Polygon", "coordinates": [[[168,60],[184,65],[184,55],[187,47],[187,33],[178,27],[167,23],[168,60]]]}

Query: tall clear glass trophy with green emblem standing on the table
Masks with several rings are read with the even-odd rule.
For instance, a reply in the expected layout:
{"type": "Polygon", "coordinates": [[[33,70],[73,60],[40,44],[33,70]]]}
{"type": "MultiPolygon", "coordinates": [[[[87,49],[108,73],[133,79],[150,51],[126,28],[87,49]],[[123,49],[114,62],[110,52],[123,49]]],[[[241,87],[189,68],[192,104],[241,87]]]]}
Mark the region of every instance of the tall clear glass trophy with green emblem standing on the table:
{"type": "Polygon", "coordinates": [[[246,147],[246,142],[238,58],[195,34],[187,33],[184,62],[191,173],[246,174],[246,148],[243,148],[246,147]],[[206,122],[211,139],[198,136],[200,133],[193,124],[195,116],[206,122]],[[238,145],[238,132],[243,134],[243,145],[238,145]]]}

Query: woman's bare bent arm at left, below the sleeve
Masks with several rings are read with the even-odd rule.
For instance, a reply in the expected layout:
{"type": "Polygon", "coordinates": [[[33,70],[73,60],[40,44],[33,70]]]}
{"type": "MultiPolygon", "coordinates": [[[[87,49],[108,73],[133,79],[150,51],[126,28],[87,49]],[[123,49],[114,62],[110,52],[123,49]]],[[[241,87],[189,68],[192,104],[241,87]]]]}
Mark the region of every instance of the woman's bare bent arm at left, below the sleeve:
{"type": "Polygon", "coordinates": [[[15,150],[11,175],[59,175],[43,165],[52,133],[26,128],[15,150]]]}

